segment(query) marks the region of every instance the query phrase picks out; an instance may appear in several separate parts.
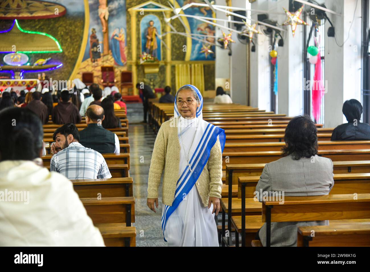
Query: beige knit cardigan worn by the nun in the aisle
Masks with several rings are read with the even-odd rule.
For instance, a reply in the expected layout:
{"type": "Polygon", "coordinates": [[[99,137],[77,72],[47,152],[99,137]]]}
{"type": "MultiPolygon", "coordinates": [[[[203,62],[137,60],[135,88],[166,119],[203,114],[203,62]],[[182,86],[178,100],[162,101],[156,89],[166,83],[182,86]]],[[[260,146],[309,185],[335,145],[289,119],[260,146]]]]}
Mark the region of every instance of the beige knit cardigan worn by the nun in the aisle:
{"type": "MultiPolygon", "coordinates": [[[[173,121],[177,122],[177,120],[171,119],[164,122],[159,128],[154,143],[148,178],[148,198],[158,198],[158,187],[164,169],[162,202],[168,206],[172,205],[175,197],[181,149],[177,127],[170,125],[174,124],[173,121]]],[[[221,198],[221,178],[222,152],[220,141],[217,138],[217,142],[211,149],[208,162],[195,183],[204,206],[208,206],[209,197],[221,198]]]]}

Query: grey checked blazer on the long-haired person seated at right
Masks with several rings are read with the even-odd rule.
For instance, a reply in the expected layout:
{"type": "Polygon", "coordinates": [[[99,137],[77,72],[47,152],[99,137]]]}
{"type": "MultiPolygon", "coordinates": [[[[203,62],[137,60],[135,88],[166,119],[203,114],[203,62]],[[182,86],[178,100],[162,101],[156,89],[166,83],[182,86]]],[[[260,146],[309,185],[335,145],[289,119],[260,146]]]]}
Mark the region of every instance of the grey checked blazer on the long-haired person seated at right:
{"type": "MultiPolygon", "coordinates": [[[[295,160],[291,155],[263,168],[256,191],[283,191],[284,196],[327,195],[333,188],[333,162],[315,155],[295,160]]],[[[271,246],[297,246],[297,226],[329,225],[328,221],[271,222],[271,246]]],[[[259,231],[266,246],[266,223],[259,231]]]]}

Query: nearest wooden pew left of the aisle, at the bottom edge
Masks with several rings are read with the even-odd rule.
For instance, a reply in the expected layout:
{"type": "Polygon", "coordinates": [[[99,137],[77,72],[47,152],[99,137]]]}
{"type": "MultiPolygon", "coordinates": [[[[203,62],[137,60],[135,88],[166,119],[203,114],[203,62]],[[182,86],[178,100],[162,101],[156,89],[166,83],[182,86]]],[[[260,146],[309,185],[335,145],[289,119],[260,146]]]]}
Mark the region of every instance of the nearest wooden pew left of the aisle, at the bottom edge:
{"type": "Polygon", "coordinates": [[[136,228],[122,223],[96,224],[105,246],[136,246],[136,228]]]}

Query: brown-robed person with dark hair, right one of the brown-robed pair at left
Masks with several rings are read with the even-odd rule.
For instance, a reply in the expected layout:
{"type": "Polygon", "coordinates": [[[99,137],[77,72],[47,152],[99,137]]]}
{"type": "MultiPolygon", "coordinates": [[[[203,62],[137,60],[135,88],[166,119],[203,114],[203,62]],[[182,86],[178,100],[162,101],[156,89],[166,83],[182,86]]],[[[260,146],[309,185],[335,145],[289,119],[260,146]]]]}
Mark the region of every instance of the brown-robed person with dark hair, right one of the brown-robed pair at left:
{"type": "Polygon", "coordinates": [[[60,93],[60,101],[53,108],[51,120],[54,124],[77,124],[81,122],[81,115],[76,105],[71,102],[71,93],[64,90],[60,93]]]}

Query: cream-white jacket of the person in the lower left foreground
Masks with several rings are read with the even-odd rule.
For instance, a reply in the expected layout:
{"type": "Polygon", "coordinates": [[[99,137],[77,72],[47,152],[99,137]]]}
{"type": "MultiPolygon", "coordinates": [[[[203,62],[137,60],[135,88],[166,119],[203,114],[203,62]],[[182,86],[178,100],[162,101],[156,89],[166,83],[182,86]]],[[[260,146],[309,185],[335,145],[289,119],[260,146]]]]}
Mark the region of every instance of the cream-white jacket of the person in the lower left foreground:
{"type": "Polygon", "coordinates": [[[104,246],[72,182],[32,161],[0,162],[0,233],[0,246],[104,246]]]}

